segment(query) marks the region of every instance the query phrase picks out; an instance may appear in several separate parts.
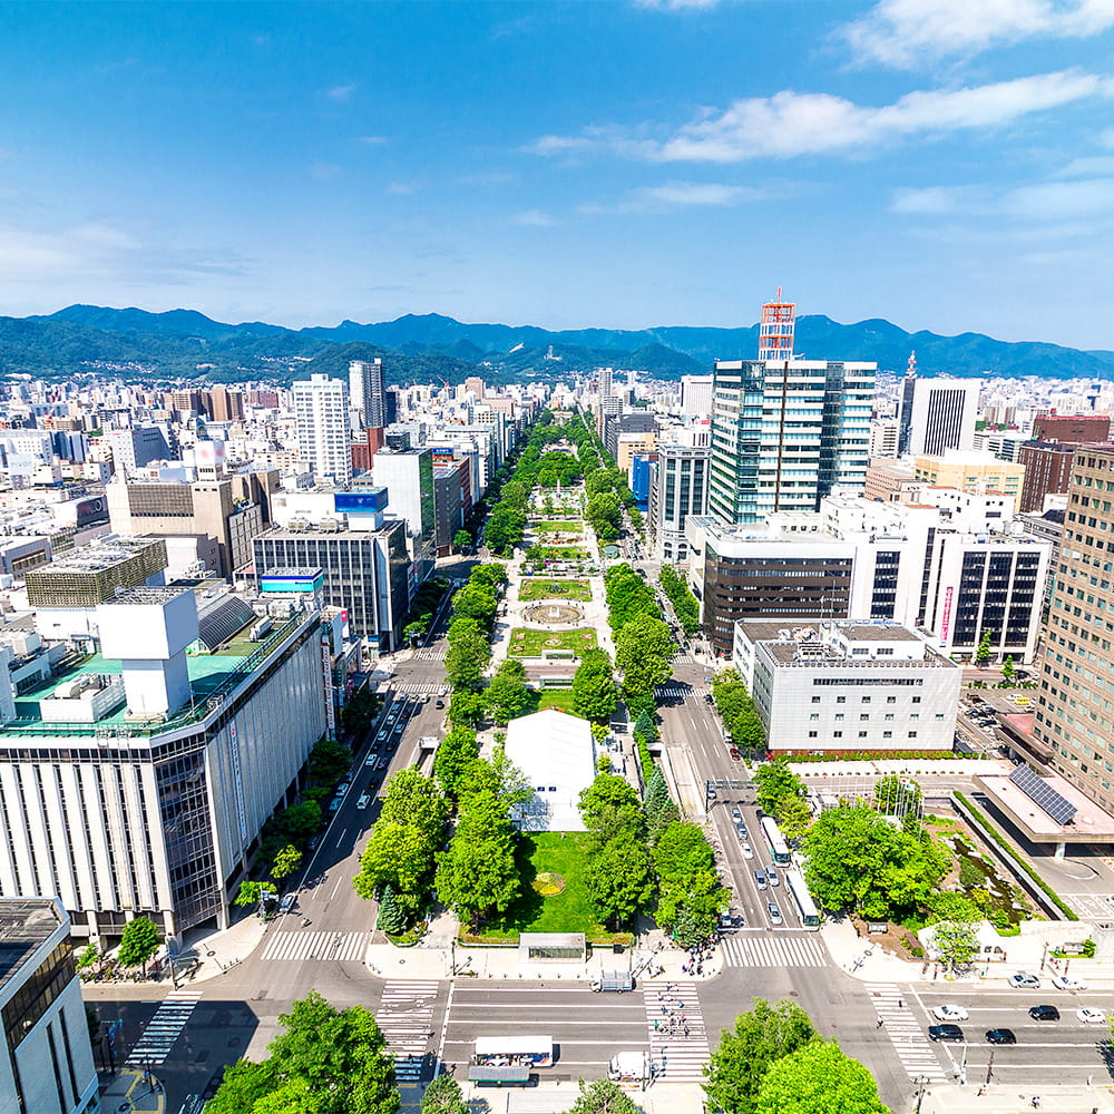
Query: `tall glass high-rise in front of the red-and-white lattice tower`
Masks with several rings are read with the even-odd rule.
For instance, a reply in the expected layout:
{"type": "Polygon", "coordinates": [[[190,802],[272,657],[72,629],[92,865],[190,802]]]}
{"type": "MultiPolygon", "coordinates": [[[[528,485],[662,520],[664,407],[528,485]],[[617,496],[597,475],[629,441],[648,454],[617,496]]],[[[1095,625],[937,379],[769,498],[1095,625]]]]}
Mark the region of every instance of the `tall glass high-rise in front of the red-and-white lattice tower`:
{"type": "Polygon", "coordinates": [[[709,514],[726,524],[815,510],[831,491],[862,491],[873,363],[719,360],[709,514]]]}

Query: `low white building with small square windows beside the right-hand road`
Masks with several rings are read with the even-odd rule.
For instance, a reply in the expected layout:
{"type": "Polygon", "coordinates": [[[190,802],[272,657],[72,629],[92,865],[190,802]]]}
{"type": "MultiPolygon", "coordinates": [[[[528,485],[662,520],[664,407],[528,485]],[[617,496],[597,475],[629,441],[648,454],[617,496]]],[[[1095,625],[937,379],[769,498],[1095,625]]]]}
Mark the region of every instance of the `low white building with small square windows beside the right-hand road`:
{"type": "Polygon", "coordinates": [[[774,754],[950,751],[962,668],[893,623],[735,626],[774,754]]]}

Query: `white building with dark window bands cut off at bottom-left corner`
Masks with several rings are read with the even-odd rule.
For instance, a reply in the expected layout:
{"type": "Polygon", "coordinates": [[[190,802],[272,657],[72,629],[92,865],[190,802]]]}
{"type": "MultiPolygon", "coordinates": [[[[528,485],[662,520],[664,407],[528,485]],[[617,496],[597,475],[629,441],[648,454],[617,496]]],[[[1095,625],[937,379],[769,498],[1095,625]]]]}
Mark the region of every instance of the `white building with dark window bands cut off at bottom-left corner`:
{"type": "Polygon", "coordinates": [[[97,1071],[70,946],[53,898],[0,898],[2,1114],[97,1111],[97,1071]]]}

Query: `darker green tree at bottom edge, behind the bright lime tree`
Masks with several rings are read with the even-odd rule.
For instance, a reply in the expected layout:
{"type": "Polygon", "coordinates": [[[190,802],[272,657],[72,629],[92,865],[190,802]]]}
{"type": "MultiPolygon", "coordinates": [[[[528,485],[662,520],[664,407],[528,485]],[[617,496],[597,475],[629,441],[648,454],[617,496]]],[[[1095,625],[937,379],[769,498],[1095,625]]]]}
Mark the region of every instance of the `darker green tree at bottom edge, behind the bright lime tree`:
{"type": "Polygon", "coordinates": [[[800,1006],[779,1001],[771,1006],[755,998],[752,1008],[735,1018],[734,1029],[724,1029],[720,1047],[712,1053],[704,1091],[724,1114],[754,1114],[759,1088],[770,1066],[819,1039],[800,1006]]]}

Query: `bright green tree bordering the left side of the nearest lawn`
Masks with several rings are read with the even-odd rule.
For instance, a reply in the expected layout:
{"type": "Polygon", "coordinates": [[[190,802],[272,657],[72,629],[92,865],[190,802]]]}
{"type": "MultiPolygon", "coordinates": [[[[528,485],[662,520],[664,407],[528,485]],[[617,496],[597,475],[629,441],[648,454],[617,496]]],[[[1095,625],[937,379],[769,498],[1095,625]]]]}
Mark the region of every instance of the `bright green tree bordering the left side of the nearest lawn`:
{"type": "Polygon", "coordinates": [[[515,829],[506,804],[490,790],[461,800],[460,820],[440,856],[437,892],[467,925],[505,912],[520,891],[515,829]]]}

